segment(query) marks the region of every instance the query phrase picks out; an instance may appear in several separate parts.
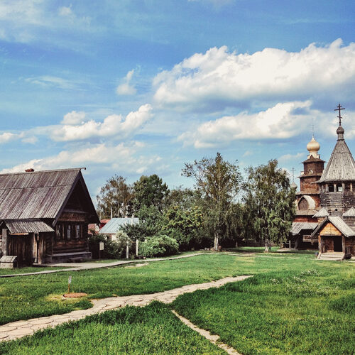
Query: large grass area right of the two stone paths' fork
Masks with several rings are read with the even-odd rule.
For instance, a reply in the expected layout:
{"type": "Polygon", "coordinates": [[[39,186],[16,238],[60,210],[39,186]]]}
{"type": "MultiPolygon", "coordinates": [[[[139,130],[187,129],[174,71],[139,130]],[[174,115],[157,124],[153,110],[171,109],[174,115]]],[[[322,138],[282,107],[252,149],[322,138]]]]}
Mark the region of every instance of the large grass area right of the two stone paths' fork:
{"type": "Polygon", "coordinates": [[[278,269],[187,293],[173,308],[241,354],[354,354],[354,263],[278,269]]]}

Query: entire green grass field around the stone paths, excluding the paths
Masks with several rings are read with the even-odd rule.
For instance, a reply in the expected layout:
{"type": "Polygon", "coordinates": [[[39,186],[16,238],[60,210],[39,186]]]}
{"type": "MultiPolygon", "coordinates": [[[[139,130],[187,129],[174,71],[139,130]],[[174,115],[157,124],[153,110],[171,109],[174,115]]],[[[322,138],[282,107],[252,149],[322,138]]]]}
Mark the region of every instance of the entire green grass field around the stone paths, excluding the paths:
{"type": "MultiPolygon", "coordinates": [[[[253,278],[219,289],[182,295],[172,307],[198,326],[219,334],[222,342],[241,354],[353,354],[354,266],[350,262],[317,261],[312,253],[248,257],[211,253],[152,262],[144,268],[114,267],[0,279],[0,309],[6,310],[0,312],[0,321],[90,307],[85,299],[60,300],[68,275],[72,275],[73,291],[80,288],[89,297],[108,297],[155,293],[225,276],[253,274],[253,278]]],[[[219,354],[217,348],[204,349],[200,340],[195,341],[193,350],[190,339],[178,335],[182,332],[177,325],[180,323],[175,323],[175,318],[170,320],[167,306],[152,307],[114,312],[119,315],[110,317],[119,319],[117,324],[93,316],[29,339],[4,343],[0,353],[51,354],[50,349],[55,349],[55,354],[219,354]],[[140,317],[142,324],[138,322],[140,317]],[[175,327],[178,333],[173,332],[175,327]],[[149,339],[155,339],[154,334],[162,351],[148,344],[149,339]],[[101,339],[101,348],[95,339],[101,339]],[[62,344],[72,344],[77,352],[66,352],[62,344]],[[88,351],[87,344],[98,350],[88,351]],[[124,348],[125,344],[129,347],[124,348]],[[173,346],[171,351],[169,346],[173,346]],[[29,348],[33,352],[26,352],[29,348]]]]}

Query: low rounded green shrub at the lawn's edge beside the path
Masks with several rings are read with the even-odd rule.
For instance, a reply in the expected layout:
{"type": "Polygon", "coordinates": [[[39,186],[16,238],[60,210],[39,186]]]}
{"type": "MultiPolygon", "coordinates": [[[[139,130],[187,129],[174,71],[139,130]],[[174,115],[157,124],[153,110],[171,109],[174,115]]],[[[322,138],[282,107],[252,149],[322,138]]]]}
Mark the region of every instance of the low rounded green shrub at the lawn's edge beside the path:
{"type": "Polygon", "coordinates": [[[178,253],[178,242],[165,236],[164,234],[158,236],[150,236],[141,244],[141,255],[143,256],[168,256],[178,253]]]}

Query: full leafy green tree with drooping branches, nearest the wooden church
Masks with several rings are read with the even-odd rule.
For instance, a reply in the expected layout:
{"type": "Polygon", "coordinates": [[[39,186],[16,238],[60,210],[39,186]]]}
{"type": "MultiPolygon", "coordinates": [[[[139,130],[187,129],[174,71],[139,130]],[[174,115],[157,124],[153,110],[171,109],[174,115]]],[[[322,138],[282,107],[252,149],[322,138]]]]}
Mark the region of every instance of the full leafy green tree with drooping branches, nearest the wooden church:
{"type": "Polygon", "coordinates": [[[257,239],[280,243],[287,239],[295,216],[295,189],[285,170],[278,168],[278,160],[247,170],[248,180],[244,195],[250,229],[257,239]]]}

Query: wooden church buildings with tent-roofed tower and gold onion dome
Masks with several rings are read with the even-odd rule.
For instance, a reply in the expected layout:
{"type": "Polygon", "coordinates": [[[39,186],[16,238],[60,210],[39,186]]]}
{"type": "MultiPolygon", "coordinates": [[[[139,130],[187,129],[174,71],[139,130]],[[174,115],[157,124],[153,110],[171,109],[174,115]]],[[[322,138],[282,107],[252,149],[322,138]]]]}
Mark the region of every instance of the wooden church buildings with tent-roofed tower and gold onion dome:
{"type": "Polygon", "coordinates": [[[322,170],[324,161],[315,152],[320,147],[312,138],[307,146],[312,156],[303,162],[305,172],[300,176],[301,188],[297,194],[292,234],[297,235],[297,223],[307,224],[299,234],[306,232],[303,242],[317,241],[320,259],[342,260],[355,256],[355,161],[344,140],[341,109],[339,104],[337,143],[326,168],[322,170]]]}

